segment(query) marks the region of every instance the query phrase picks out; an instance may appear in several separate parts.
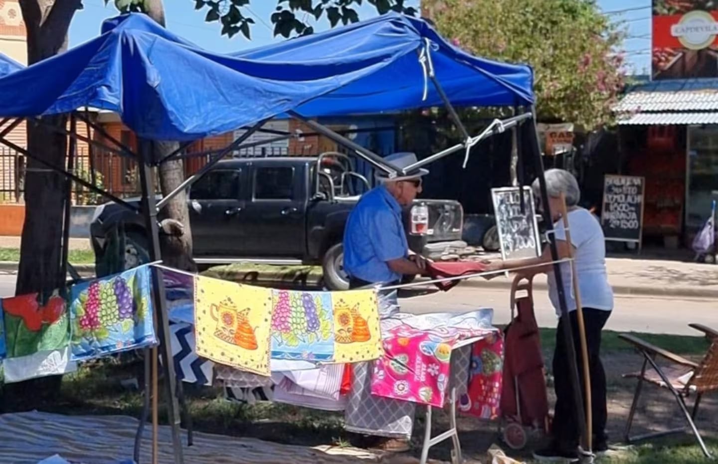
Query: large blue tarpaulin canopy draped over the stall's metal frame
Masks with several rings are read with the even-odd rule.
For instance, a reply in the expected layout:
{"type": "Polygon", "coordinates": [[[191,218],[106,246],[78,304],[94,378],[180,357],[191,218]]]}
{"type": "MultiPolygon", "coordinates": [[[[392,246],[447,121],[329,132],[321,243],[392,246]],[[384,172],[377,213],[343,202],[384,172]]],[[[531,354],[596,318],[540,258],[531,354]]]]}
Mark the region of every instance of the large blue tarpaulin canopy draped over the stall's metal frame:
{"type": "Polygon", "coordinates": [[[200,49],[144,14],[125,14],[106,21],[99,37],[0,78],[0,117],[88,106],[118,113],[141,137],[190,141],[289,110],[314,116],[439,105],[426,82],[431,65],[454,104],[533,103],[529,67],[471,57],[425,22],[398,14],[234,56],[200,49]]]}

